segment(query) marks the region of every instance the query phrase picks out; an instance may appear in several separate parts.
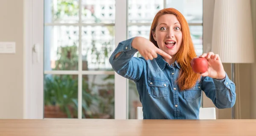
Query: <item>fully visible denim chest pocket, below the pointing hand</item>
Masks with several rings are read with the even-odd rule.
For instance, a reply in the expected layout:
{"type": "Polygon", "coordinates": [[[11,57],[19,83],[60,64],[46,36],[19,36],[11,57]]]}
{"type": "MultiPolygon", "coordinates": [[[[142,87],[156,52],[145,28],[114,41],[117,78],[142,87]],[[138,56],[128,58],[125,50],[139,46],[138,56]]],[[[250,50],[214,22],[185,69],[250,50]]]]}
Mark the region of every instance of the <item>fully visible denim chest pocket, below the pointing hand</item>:
{"type": "Polygon", "coordinates": [[[148,78],[148,94],[155,98],[168,95],[169,81],[157,78],[148,78]]]}

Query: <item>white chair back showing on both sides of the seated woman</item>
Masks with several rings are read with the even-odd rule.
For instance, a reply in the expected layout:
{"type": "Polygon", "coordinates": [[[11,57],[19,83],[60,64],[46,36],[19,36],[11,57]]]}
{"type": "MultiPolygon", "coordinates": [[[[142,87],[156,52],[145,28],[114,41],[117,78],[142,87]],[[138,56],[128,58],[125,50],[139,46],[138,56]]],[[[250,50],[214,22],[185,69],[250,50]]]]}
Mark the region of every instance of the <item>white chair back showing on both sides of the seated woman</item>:
{"type": "MultiPolygon", "coordinates": [[[[137,119],[143,119],[142,107],[137,107],[137,119]]],[[[199,119],[216,119],[215,107],[200,108],[199,119]]]]}

